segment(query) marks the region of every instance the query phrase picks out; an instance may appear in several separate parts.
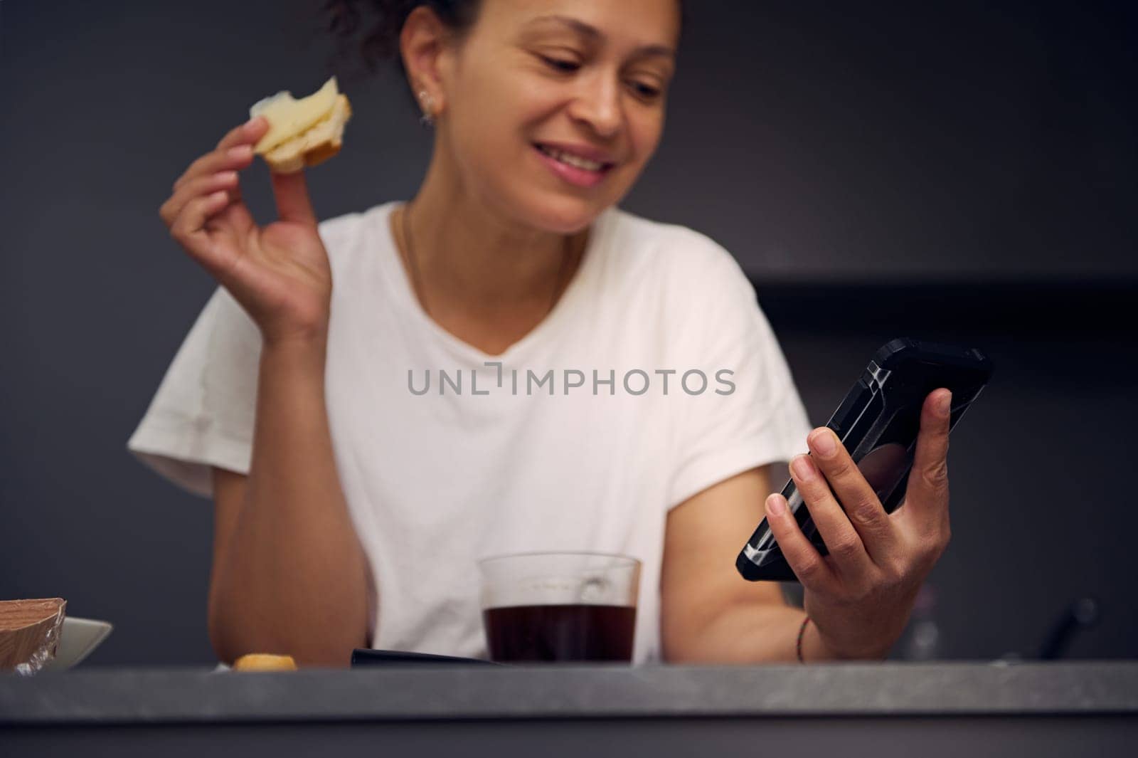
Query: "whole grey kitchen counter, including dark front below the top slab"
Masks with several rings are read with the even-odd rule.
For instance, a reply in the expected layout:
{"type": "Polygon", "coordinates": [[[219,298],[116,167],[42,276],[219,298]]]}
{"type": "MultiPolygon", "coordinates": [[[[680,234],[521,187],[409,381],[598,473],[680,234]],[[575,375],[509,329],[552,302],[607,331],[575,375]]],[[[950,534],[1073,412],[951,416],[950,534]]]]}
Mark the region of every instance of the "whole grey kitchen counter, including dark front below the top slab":
{"type": "Polygon", "coordinates": [[[0,676],[11,755],[324,755],[332,735],[340,755],[1132,756],[1138,662],[0,676]]]}

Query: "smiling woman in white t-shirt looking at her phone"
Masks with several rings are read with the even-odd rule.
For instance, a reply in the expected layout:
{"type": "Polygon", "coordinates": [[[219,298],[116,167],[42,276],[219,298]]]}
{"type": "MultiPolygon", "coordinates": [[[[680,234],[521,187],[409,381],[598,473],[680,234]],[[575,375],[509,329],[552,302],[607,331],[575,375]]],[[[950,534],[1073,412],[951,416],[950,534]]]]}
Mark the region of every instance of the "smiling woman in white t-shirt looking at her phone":
{"type": "Polygon", "coordinates": [[[412,200],[318,222],[273,174],[257,228],[253,121],[160,209],[221,287],[129,446],[213,496],[218,657],[485,654],[476,560],[541,550],[643,561],[637,661],[883,657],[948,539],[947,390],[887,516],[832,432],[807,442],[731,255],[616,207],[663,130],[678,2],[373,5],[435,124],[412,200]],[[733,559],[807,444],[831,555],[766,500],[803,613],[733,559]]]}

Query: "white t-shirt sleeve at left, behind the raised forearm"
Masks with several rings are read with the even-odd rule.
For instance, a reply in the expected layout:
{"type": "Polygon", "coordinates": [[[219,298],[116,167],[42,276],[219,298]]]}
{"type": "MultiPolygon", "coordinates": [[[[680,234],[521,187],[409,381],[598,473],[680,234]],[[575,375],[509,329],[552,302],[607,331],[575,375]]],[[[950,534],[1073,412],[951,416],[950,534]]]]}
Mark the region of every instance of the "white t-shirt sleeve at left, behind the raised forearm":
{"type": "Polygon", "coordinates": [[[211,467],[248,473],[261,332],[218,287],[187,335],[126,443],[142,463],[198,495],[211,467]]]}

